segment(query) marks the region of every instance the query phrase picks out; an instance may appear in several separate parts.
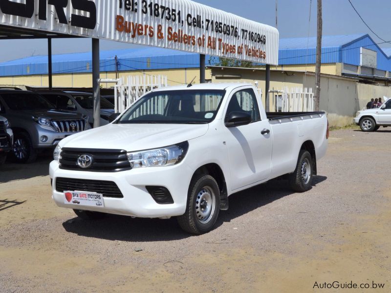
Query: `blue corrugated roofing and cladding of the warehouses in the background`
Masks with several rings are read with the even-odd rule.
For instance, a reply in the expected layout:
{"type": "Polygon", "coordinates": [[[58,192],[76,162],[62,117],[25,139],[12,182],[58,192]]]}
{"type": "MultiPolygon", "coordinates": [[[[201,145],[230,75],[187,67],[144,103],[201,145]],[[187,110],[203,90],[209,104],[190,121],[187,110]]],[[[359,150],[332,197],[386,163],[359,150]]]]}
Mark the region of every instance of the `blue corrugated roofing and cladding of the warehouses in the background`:
{"type": "MultiPolygon", "coordinates": [[[[391,48],[381,49],[368,34],[323,36],[322,63],[359,65],[361,47],[378,52],[377,69],[391,71],[391,48]]],[[[101,71],[115,71],[115,56],[122,71],[199,67],[198,54],[147,47],[101,51],[101,71]]],[[[206,59],[208,63],[209,56],[206,59]]],[[[279,64],[313,64],[315,59],[315,37],[280,40],[279,64]]],[[[54,74],[92,71],[91,52],[53,55],[52,62],[54,74]]],[[[47,56],[32,56],[0,63],[0,76],[47,74],[47,67],[47,56]]]]}

